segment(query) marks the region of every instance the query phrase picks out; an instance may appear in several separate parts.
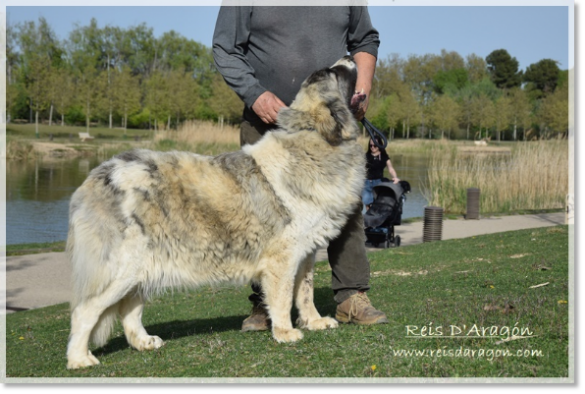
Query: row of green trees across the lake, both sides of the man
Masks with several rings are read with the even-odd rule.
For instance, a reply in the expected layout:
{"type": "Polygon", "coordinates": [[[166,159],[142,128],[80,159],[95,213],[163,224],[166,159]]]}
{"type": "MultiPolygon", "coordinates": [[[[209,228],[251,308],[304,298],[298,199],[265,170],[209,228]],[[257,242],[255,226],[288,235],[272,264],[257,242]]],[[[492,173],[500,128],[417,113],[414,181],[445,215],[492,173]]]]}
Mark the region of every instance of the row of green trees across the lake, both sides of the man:
{"type": "MultiPolygon", "coordinates": [[[[243,103],[214,66],[211,49],[146,24],[92,19],[59,40],[46,20],[6,31],[9,119],[60,118],[127,127],[176,127],[193,119],[240,120],[243,103]]],[[[505,49],[485,59],[453,51],[378,59],[368,118],[391,138],[564,135],[568,71],[551,59],[525,72],[505,49]],[[524,85],[521,83],[524,82],[524,85]],[[438,131],[438,133],[437,133],[438,131]]],[[[521,137],[522,136],[522,137],[521,137]]]]}

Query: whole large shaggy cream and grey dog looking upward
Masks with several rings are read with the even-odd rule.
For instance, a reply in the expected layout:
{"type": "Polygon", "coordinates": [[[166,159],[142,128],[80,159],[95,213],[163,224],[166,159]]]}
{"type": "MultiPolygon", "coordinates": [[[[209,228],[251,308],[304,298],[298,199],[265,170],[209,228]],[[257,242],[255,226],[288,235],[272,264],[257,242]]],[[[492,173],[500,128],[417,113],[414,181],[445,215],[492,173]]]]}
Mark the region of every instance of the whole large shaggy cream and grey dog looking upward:
{"type": "Polygon", "coordinates": [[[356,66],[315,72],[279,115],[280,129],[216,157],[135,150],[94,169],[71,199],[67,252],[74,298],[68,368],[98,364],[116,317],[138,350],[163,345],[141,321],[168,287],[262,284],[278,342],[337,326],[313,304],[314,252],[359,205],[364,156],[349,109],[356,66]]]}

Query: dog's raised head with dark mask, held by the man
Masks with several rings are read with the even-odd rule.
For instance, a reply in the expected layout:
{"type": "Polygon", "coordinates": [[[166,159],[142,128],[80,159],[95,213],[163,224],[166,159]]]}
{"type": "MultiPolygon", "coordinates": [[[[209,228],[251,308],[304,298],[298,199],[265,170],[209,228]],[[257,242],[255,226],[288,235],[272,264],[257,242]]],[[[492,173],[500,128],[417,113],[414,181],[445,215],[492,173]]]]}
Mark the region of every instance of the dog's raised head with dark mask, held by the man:
{"type": "Polygon", "coordinates": [[[291,106],[278,114],[279,126],[293,132],[314,129],[331,145],[355,140],[359,128],[352,111],[361,103],[352,100],[356,80],[357,66],[351,56],[315,71],[302,83],[291,106]]]}

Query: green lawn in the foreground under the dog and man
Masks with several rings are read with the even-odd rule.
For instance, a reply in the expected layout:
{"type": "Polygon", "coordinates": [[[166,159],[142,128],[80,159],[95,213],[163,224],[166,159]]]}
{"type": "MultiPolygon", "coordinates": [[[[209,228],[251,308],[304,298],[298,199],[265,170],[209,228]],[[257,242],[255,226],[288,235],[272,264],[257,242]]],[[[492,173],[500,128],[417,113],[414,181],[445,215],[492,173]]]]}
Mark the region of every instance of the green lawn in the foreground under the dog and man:
{"type": "MultiPolygon", "coordinates": [[[[398,231],[399,232],[399,231],[398,231]]],[[[569,275],[567,226],[425,243],[370,253],[370,299],[390,324],[305,331],[294,344],[269,332],[239,332],[248,287],[204,287],[153,299],[144,324],[165,346],[129,348],[120,325],[92,349],[102,364],[65,368],[67,304],[6,316],[7,377],[567,377],[569,275]],[[531,286],[548,283],[546,286],[531,286]],[[518,327],[534,337],[407,337],[407,326],[518,327]],[[475,351],[476,357],[399,356],[401,350],[475,351]],[[536,351],[504,357],[492,351],[536,351]],[[485,353],[480,357],[480,353],[485,353]]],[[[331,273],[316,265],[315,300],[334,315],[331,273]]],[[[412,329],[412,327],[410,327],[412,329]]]]}

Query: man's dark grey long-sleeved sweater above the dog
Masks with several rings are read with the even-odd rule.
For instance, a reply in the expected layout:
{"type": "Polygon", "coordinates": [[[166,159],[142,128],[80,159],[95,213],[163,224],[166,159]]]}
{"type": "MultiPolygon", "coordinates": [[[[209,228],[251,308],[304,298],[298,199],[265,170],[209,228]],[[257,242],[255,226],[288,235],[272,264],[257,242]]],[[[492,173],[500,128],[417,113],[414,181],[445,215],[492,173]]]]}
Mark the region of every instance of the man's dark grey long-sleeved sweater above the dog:
{"type": "Polygon", "coordinates": [[[348,52],[378,55],[380,40],[367,7],[221,7],[213,58],[244,101],[244,119],[265,91],[290,105],[303,80],[348,52]]]}

